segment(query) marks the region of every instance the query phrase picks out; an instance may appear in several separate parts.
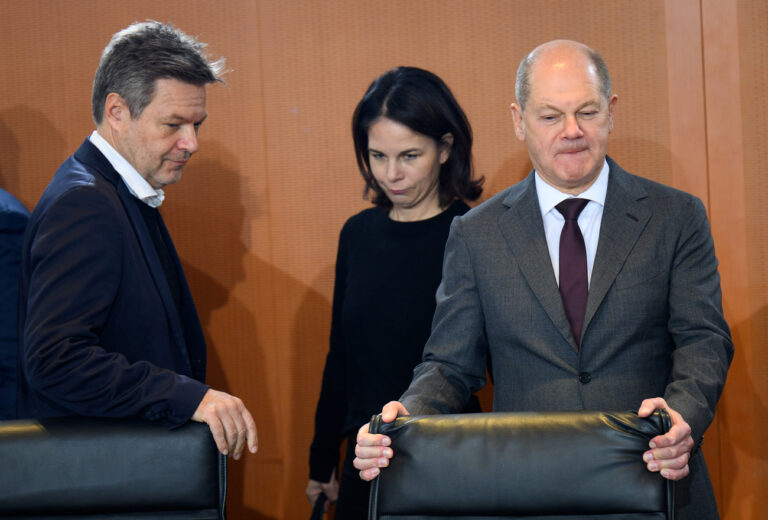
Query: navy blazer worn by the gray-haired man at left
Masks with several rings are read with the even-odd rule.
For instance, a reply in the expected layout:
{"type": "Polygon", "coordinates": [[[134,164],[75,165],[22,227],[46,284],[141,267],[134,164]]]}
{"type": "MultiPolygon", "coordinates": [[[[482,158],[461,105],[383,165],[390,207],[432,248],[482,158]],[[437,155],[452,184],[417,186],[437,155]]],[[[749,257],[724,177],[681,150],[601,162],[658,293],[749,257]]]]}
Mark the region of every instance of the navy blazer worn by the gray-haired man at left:
{"type": "Polygon", "coordinates": [[[21,259],[18,415],[190,419],[205,340],[176,251],[174,303],[137,200],[89,140],[35,207],[21,259]]]}

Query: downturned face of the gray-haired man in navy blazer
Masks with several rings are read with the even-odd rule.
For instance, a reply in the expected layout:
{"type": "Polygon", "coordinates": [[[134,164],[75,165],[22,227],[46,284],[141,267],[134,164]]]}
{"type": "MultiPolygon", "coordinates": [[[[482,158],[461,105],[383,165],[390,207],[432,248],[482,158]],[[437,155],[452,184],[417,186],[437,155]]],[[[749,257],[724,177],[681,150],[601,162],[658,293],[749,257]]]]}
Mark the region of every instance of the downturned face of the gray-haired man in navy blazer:
{"type": "Polygon", "coordinates": [[[155,95],[141,115],[113,126],[114,146],[153,188],[181,179],[198,149],[197,131],[206,118],[205,87],[175,79],[155,82],[155,95]]]}

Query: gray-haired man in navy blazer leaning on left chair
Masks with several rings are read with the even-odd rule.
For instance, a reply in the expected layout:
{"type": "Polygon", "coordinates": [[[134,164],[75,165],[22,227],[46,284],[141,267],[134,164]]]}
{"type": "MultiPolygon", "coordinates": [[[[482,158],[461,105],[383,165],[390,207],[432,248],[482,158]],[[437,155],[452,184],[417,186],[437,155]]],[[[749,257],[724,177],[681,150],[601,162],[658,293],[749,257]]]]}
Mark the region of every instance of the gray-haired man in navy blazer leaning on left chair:
{"type": "Polygon", "coordinates": [[[205,384],[206,351],[158,211],[198,149],[221,62],[157,22],[112,37],[93,83],[96,131],[56,172],[21,260],[19,417],[207,423],[219,450],[256,451],[237,397],[205,384]]]}

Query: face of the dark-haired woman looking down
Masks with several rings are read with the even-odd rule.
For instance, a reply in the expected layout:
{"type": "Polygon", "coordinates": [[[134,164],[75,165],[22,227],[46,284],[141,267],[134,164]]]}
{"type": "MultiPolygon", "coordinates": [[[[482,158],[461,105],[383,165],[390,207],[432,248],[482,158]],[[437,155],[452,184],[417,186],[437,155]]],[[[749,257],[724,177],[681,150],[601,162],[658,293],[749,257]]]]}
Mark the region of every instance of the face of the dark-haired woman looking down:
{"type": "Polygon", "coordinates": [[[453,136],[440,143],[407,126],[380,117],[368,130],[371,173],[392,201],[394,220],[422,220],[440,212],[438,176],[450,156],[453,136]]]}

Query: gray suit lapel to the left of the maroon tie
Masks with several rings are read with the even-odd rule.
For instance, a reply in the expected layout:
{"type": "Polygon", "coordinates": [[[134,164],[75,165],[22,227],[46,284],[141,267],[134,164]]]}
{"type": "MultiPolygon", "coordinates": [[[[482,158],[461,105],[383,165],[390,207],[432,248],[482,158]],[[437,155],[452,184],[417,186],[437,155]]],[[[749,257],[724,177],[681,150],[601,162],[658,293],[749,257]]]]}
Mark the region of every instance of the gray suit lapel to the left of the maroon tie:
{"type": "Polygon", "coordinates": [[[571,347],[577,350],[549,258],[533,172],[517,187],[519,189],[513,189],[504,199],[504,205],[509,209],[499,219],[501,234],[549,319],[571,347]]]}

